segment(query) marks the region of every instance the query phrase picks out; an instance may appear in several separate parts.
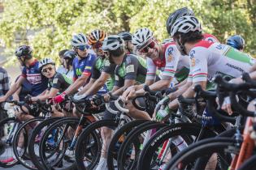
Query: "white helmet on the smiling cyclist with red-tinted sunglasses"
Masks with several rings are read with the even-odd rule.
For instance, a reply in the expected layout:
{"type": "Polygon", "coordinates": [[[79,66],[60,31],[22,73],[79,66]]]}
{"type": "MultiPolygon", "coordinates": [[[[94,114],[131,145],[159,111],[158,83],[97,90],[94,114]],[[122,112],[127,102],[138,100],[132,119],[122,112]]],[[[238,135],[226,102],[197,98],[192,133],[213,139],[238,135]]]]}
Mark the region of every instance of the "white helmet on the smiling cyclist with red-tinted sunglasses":
{"type": "Polygon", "coordinates": [[[132,36],[132,44],[141,49],[149,40],[153,39],[153,32],[149,28],[140,28],[132,36]]]}

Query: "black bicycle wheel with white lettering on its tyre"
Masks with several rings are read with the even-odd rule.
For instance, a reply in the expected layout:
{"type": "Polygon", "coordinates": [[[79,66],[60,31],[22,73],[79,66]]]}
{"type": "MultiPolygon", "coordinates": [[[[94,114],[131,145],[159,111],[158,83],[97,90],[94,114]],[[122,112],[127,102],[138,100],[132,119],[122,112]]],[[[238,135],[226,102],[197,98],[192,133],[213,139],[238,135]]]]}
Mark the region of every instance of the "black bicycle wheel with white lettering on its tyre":
{"type": "Polygon", "coordinates": [[[161,167],[167,162],[167,159],[171,159],[177,152],[187,147],[190,143],[202,134],[201,138],[215,137],[215,132],[212,130],[204,129],[202,134],[202,125],[196,123],[179,123],[176,125],[168,125],[167,127],[159,130],[150,140],[145,144],[145,147],[141,151],[140,158],[138,160],[138,169],[150,169],[153,167],[161,167]],[[167,140],[170,140],[169,154],[166,157],[157,159],[159,155],[159,149],[161,149],[167,140]],[[163,161],[163,159],[165,159],[163,161]]]}

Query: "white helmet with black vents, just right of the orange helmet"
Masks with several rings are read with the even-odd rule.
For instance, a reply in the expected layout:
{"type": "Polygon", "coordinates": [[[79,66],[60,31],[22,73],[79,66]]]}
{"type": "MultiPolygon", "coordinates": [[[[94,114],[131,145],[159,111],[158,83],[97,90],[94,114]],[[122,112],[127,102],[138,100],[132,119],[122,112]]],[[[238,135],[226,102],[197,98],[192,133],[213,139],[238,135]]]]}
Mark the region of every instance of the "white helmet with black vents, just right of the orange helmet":
{"type": "Polygon", "coordinates": [[[124,40],[120,36],[106,36],[106,38],[103,40],[103,51],[114,51],[116,49],[119,49],[119,47],[124,47],[124,40]]]}

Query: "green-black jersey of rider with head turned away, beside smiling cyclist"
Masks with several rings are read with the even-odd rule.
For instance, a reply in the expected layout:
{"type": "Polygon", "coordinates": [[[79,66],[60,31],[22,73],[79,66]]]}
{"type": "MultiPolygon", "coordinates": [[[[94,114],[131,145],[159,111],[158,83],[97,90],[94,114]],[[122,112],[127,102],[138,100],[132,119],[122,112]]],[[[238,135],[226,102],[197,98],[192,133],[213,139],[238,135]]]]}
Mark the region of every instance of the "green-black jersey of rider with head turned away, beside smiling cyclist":
{"type": "Polygon", "coordinates": [[[115,86],[123,87],[125,79],[134,79],[137,83],[145,83],[146,62],[142,57],[127,54],[120,66],[115,68],[115,86]]]}

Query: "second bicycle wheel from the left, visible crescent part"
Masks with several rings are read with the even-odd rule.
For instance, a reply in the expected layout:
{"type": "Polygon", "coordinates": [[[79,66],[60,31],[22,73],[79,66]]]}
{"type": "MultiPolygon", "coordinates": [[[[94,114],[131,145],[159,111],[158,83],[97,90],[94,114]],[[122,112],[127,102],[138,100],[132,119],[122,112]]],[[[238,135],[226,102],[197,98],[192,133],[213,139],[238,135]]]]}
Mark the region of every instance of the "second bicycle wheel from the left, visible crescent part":
{"type": "Polygon", "coordinates": [[[43,117],[36,117],[31,120],[25,121],[20,125],[19,130],[14,135],[13,139],[13,151],[16,159],[20,161],[25,168],[37,169],[31,162],[28,156],[28,137],[32,134],[32,130],[43,121],[43,117]]]}

